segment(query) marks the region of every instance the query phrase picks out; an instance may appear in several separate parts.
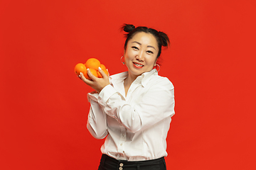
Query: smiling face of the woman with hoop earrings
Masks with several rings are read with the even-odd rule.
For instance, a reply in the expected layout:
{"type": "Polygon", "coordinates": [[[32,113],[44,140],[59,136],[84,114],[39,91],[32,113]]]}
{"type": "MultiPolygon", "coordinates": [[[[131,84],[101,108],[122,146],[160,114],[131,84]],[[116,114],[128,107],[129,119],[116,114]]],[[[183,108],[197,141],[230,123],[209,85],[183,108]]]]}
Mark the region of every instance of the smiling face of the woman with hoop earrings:
{"type": "Polygon", "coordinates": [[[138,77],[144,72],[149,72],[156,64],[159,52],[156,38],[151,33],[136,33],[127,42],[124,50],[124,62],[128,67],[129,76],[138,77]]]}

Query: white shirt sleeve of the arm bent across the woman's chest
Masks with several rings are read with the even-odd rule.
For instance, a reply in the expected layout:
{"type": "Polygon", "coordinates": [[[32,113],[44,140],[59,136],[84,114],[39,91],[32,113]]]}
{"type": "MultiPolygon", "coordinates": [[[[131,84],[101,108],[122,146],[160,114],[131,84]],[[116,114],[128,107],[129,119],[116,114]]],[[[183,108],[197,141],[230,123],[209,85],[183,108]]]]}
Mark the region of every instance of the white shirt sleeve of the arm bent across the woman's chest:
{"type": "Polygon", "coordinates": [[[100,92],[98,102],[107,115],[115,118],[131,132],[144,130],[174,115],[174,86],[169,79],[159,79],[145,88],[148,89],[140,93],[134,87],[132,95],[139,97],[133,103],[128,103],[108,85],[100,92]]]}

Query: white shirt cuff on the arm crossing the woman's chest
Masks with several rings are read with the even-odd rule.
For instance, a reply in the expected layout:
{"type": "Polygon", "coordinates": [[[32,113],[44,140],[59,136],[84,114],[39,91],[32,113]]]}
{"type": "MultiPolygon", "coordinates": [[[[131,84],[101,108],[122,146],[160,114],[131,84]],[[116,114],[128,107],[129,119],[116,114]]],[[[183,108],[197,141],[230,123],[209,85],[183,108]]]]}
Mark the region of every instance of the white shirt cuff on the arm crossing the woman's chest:
{"type": "Polygon", "coordinates": [[[115,93],[117,93],[117,91],[114,89],[113,86],[111,86],[110,84],[105,86],[102,91],[100,91],[98,102],[100,103],[100,105],[106,106],[107,100],[115,93]]]}

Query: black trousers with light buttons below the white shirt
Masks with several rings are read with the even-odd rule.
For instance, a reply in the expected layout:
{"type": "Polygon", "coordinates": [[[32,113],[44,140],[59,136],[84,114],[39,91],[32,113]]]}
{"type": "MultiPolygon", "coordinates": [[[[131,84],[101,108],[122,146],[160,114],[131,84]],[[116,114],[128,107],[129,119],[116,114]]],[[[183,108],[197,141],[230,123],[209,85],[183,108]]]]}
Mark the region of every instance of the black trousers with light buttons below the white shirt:
{"type": "Polygon", "coordinates": [[[98,170],[166,170],[166,162],[164,157],[139,162],[128,162],[102,154],[98,170]]]}

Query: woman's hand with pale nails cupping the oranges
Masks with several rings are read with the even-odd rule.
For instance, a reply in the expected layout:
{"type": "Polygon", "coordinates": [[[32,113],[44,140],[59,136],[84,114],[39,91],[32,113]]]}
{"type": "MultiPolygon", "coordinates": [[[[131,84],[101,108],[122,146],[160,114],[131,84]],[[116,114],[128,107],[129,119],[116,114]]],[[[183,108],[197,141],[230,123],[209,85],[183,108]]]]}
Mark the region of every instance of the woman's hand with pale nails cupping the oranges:
{"type": "Polygon", "coordinates": [[[85,82],[88,86],[91,86],[92,89],[95,89],[97,93],[100,93],[102,89],[110,84],[109,75],[105,74],[105,72],[102,71],[102,69],[99,67],[98,71],[100,74],[102,74],[102,78],[95,77],[91,72],[90,69],[87,69],[87,74],[92,80],[88,80],[84,77],[82,73],[80,73],[80,78],[82,81],[85,82]]]}

